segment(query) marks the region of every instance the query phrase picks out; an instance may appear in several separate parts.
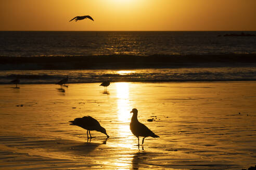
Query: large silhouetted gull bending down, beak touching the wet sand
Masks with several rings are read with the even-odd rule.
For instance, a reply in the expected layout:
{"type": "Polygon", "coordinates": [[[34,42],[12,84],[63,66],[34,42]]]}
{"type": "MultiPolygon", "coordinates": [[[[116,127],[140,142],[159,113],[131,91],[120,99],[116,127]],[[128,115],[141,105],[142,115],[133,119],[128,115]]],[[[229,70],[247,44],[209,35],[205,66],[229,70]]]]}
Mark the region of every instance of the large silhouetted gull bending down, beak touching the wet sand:
{"type": "Polygon", "coordinates": [[[76,125],[87,130],[87,139],[92,138],[90,131],[98,131],[98,132],[104,133],[105,135],[107,135],[107,138],[109,138],[109,135],[107,134],[106,129],[103,126],[101,126],[99,122],[96,119],[92,118],[91,116],[75,118],[73,121],[69,121],[69,122],[71,122],[70,125],[76,125]],[[89,131],[90,137],[88,137],[88,131],[89,131]]]}

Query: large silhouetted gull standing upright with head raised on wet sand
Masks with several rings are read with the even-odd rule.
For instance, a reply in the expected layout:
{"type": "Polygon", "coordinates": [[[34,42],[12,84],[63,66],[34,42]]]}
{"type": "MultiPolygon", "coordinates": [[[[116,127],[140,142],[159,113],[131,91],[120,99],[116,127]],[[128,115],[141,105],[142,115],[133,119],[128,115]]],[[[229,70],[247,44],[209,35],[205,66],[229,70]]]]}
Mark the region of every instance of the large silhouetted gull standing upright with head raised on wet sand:
{"type": "Polygon", "coordinates": [[[138,121],[138,118],[137,118],[138,110],[137,109],[134,108],[131,111],[131,113],[133,113],[133,117],[132,117],[132,120],[130,123],[130,129],[131,129],[132,133],[138,138],[138,146],[139,146],[139,136],[144,137],[142,139],[142,145],[144,143],[144,139],[148,136],[151,136],[153,138],[159,137],[158,135],[156,135],[155,133],[150,131],[147,126],[145,126],[144,124],[142,124],[138,121]]]}

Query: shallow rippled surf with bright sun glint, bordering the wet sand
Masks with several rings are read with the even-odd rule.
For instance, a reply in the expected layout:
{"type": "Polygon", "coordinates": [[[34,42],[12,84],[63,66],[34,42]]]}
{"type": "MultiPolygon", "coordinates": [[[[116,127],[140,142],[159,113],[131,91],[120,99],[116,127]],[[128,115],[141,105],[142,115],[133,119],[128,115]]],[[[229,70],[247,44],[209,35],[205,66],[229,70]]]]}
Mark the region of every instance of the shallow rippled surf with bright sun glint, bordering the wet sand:
{"type": "Polygon", "coordinates": [[[69,77],[68,83],[92,82],[174,82],[174,81],[255,81],[255,67],[170,68],[132,70],[8,70],[0,71],[0,83],[56,83],[69,77]]]}

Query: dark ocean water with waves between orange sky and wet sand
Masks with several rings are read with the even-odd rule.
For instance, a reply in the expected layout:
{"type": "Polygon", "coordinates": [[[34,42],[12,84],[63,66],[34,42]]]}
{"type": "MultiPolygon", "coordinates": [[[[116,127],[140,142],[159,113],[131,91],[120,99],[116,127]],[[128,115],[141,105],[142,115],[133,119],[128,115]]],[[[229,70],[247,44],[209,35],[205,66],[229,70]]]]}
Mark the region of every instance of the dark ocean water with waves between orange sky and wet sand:
{"type": "Polygon", "coordinates": [[[256,80],[256,36],[231,34],[0,32],[0,83],[256,80]]]}

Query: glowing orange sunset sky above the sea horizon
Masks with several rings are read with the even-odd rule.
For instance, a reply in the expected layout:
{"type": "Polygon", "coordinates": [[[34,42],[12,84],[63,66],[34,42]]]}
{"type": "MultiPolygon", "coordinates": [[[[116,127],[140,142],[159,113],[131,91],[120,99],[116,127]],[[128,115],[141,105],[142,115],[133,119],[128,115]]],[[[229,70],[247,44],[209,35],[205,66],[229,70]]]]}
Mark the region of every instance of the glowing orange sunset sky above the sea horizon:
{"type": "Polygon", "coordinates": [[[256,31],[256,0],[0,0],[0,16],[0,31],[256,31]]]}

